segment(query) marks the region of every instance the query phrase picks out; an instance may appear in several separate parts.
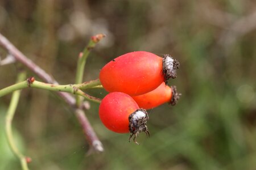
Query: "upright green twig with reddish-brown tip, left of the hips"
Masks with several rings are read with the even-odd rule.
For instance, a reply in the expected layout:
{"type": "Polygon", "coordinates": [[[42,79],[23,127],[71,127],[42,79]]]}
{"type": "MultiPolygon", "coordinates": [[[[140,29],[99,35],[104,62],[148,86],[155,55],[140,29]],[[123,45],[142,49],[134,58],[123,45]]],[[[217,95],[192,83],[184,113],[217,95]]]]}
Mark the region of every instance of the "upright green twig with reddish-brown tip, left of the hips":
{"type": "MultiPolygon", "coordinates": [[[[84,76],[84,67],[86,63],[86,59],[90,53],[90,50],[94,48],[94,46],[103,38],[104,34],[98,34],[92,36],[89,44],[84,48],[84,52],[79,55],[79,59],[77,61],[77,69],[76,69],[76,84],[82,83],[82,77],[84,76]]],[[[81,97],[76,96],[76,105],[79,106],[81,104],[81,97]]]]}

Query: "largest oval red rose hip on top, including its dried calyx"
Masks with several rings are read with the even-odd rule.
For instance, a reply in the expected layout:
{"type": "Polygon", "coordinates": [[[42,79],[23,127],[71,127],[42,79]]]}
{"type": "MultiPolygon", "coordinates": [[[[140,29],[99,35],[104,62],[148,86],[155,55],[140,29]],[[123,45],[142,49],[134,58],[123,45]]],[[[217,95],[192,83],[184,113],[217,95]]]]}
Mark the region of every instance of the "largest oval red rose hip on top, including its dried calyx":
{"type": "Polygon", "coordinates": [[[107,63],[100,71],[100,81],[106,91],[142,95],[176,78],[178,68],[179,62],[170,55],[162,58],[148,52],[131,52],[107,63]]]}

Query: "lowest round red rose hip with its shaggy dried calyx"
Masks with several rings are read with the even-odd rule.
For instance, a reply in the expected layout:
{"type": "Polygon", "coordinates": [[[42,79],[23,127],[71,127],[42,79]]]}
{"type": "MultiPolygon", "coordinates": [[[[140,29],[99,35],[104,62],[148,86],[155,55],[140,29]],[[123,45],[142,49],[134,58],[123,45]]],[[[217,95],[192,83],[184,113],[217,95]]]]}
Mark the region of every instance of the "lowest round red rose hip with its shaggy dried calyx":
{"type": "Polygon", "coordinates": [[[134,142],[141,131],[149,135],[146,126],[148,120],[146,110],[140,109],[133,98],[123,92],[112,92],[106,95],[101,101],[99,114],[106,128],[117,133],[130,131],[130,139],[134,135],[134,142]]]}

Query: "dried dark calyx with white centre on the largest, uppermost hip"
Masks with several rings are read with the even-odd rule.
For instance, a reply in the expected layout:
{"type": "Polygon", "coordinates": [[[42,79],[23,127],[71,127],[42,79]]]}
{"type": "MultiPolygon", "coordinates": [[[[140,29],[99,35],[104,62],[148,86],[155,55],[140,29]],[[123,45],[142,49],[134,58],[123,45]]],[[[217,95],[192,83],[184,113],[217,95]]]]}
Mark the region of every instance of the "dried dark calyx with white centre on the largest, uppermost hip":
{"type": "Polygon", "coordinates": [[[173,59],[169,54],[164,55],[163,57],[163,74],[164,81],[167,83],[167,80],[170,78],[176,78],[176,70],[179,69],[180,63],[177,59],[173,59]]]}

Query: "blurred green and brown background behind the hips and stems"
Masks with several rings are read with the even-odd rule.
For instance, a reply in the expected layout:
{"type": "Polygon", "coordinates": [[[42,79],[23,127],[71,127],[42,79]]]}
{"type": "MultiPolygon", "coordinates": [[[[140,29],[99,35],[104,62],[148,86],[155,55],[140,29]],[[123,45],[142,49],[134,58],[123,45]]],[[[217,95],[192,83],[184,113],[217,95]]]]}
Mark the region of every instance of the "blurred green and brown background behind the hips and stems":
{"type": "MultiPolygon", "coordinates": [[[[168,82],[181,99],[148,111],[151,137],[141,134],[140,146],[106,129],[91,103],[86,115],[101,154],[87,156],[76,117],[54,93],[23,90],[14,131],[31,169],[256,169],[256,1],[0,0],[0,32],[61,84],[75,81],[77,56],[97,33],[107,37],[90,54],[84,80],[136,50],[181,63],[168,82]]],[[[0,88],[17,73],[15,64],[0,66],[0,88]]],[[[10,96],[0,98],[0,169],[20,169],[3,129],[10,96]]]]}

